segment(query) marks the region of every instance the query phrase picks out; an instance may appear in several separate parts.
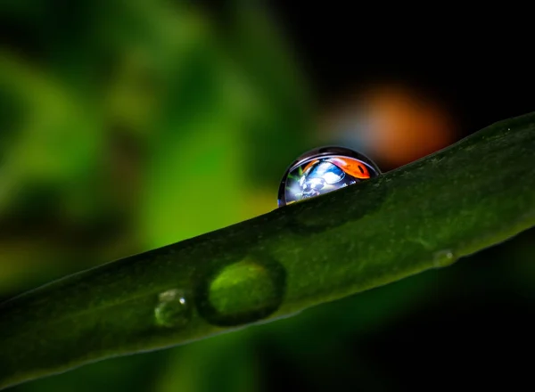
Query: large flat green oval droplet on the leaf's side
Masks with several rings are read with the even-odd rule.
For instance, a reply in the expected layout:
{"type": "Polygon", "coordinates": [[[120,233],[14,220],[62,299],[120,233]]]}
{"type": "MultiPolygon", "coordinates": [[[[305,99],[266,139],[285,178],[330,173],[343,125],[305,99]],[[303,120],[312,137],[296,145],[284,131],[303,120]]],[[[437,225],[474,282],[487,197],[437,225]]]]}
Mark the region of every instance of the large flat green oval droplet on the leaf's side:
{"type": "Polygon", "coordinates": [[[286,273],[280,263],[266,256],[249,256],[210,272],[197,292],[196,303],[209,323],[252,323],[276,311],[285,287],[286,273]]]}

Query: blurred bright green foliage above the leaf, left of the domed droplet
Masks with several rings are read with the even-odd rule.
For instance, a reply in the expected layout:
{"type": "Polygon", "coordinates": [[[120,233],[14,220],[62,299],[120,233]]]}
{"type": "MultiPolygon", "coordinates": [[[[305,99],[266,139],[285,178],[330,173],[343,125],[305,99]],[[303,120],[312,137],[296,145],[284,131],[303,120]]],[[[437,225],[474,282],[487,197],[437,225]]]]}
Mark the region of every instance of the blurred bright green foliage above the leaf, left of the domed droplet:
{"type": "Polygon", "coordinates": [[[310,100],[252,5],[226,29],[188,2],[2,5],[0,293],[35,263],[62,271],[27,288],[276,207],[262,190],[300,151],[310,100]]]}

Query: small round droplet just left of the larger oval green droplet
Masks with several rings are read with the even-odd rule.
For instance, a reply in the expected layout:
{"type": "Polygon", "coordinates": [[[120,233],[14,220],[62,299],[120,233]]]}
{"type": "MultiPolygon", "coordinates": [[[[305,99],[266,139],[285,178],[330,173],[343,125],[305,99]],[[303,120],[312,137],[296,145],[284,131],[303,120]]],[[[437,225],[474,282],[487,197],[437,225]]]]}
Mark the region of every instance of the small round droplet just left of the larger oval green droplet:
{"type": "Polygon", "coordinates": [[[182,327],[189,322],[191,316],[192,309],[183,290],[171,289],[160,293],[158,305],[154,308],[158,325],[182,327]]]}

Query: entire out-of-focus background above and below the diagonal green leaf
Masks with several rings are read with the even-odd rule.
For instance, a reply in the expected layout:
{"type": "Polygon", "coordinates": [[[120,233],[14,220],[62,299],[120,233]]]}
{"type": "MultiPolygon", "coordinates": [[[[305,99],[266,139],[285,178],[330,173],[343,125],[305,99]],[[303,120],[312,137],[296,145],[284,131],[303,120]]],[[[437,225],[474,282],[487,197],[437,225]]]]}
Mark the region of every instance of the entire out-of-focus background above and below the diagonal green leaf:
{"type": "MultiPolygon", "coordinates": [[[[267,213],[286,166],[318,145],[387,171],[535,108],[532,61],[481,70],[482,44],[501,41],[466,54],[460,32],[424,45],[368,23],[325,4],[2,1],[0,299],[267,213]]],[[[511,389],[530,380],[534,236],[12,390],[511,389]]]]}

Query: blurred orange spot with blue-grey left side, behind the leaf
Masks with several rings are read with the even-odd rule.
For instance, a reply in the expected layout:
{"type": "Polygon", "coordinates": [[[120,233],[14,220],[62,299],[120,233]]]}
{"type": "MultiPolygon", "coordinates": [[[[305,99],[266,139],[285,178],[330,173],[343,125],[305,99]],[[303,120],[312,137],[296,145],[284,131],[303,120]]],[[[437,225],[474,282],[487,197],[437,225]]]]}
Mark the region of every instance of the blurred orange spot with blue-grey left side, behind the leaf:
{"type": "MultiPolygon", "coordinates": [[[[448,110],[405,86],[368,88],[356,102],[338,108],[328,123],[334,134],[341,131],[336,124],[353,124],[351,132],[362,152],[390,167],[438,151],[456,137],[448,110]]],[[[348,127],[342,131],[347,138],[348,127]]]]}

